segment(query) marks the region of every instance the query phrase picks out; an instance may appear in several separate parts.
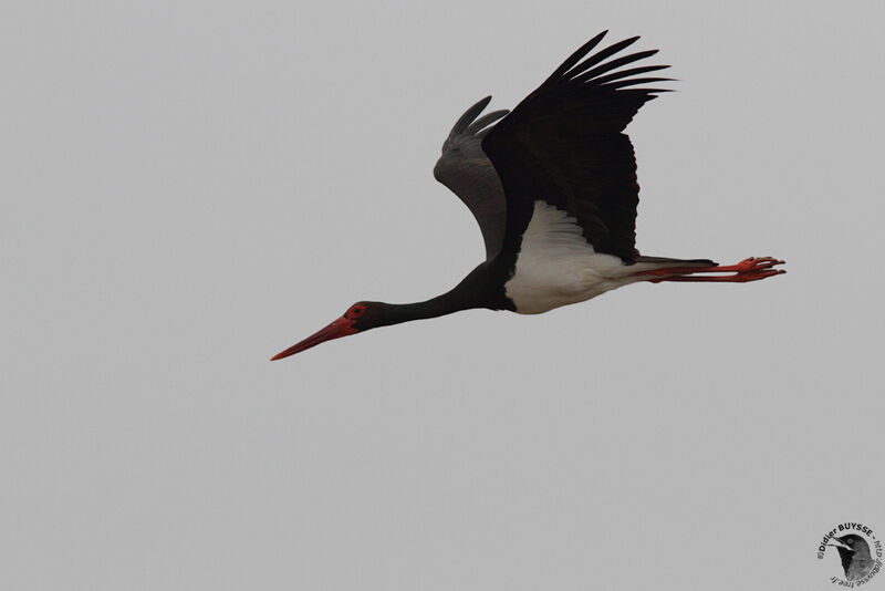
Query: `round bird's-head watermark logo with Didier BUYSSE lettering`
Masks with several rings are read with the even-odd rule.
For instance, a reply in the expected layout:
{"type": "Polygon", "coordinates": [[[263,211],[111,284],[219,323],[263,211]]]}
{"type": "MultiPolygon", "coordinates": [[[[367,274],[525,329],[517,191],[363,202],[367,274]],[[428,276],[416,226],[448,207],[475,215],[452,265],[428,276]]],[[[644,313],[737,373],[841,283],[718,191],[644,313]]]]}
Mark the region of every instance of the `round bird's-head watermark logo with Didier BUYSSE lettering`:
{"type": "Polygon", "coordinates": [[[848,588],[864,584],[882,569],[882,542],[872,528],[862,523],[845,522],[831,529],[818,548],[818,558],[822,559],[829,548],[836,549],[844,573],[844,579],[830,578],[834,584],[848,588]]]}

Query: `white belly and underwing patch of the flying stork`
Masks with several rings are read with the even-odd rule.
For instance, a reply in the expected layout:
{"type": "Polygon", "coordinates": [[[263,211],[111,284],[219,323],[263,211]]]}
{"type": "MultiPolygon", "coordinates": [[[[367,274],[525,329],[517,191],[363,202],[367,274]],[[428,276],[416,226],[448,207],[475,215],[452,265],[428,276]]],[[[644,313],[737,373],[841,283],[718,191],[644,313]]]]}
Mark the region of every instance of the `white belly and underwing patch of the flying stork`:
{"type": "Polygon", "coordinates": [[[538,200],[522,236],[516,272],[504,290],[517,312],[540,314],[641,281],[634,276],[638,267],[596,252],[575,218],[538,200]]]}

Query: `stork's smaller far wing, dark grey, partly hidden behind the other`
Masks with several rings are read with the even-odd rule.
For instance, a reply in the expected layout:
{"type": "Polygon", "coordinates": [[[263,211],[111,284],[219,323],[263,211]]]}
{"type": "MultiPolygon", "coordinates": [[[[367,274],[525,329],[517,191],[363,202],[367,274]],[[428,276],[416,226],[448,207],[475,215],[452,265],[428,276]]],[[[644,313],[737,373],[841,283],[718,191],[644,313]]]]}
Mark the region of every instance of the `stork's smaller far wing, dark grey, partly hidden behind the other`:
{"type": "Polygon", "coordinates": [[[491,96],[481,100],[455,123],[434,167],[434,177],[460,197],[479,222],[487,260],[493,259],[501,249],[507,227],[507,203],[498,173],[482,152],[481,144],[490,131],[489,125],[509,113],[494,111],[477,118],[489,101],[491,96]]]}

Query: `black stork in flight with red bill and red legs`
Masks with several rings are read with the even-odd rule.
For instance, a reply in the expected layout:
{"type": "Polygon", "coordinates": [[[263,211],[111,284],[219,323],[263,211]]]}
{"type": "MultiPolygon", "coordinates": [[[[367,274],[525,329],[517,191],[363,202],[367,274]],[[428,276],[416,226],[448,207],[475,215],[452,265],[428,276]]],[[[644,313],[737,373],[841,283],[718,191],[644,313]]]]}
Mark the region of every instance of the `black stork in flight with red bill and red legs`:
{"type": "Polygon", "coordinates": [[[616,56],[638,37],[592,55],[591,39],[512,111],[480,116],[491,96],[467,110],[442,144],[434,176],[479,222],[486,260],[455,289],[418,303],[361,301],[278,353],[410,320],[473,308],[538,314],[637,281],[757,281],[785,271],[771,257],[720,266],[708,259],[644,257],[635,248],[636,160],[623,133],[673,79],[638,65],[657,53],[616,56]]]}

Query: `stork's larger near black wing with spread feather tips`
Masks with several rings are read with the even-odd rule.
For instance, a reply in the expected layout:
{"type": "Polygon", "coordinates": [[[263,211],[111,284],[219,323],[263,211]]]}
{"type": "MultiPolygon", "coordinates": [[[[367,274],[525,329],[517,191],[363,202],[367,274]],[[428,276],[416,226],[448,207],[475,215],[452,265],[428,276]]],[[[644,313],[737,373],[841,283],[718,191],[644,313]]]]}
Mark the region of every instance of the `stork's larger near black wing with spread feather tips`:
{"type": "Polygon", "coordinates": [[[574,217],[596,252],[626,262],[638,256],[636,160],[622,132],[643,104],[667,92],[635,86],[671,79],[641,76],[667,65],[622,69],[657,50],[608,60],[638,37],[584,59],[606,32],[574,52],[482,141],[504,188],[504,240],[514,250],[534,201],[542,200],[574,217]]]}

